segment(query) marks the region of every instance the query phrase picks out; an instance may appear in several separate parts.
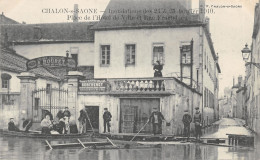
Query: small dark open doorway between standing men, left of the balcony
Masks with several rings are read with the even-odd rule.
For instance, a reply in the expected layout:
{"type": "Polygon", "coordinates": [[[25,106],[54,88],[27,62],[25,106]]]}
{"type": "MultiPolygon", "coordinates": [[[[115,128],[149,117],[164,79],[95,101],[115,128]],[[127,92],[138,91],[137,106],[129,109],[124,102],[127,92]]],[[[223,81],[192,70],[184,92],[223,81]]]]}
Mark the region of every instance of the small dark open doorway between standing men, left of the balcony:
{"type": "Polygon", "coordinates": [[[99,106],[85,106],[85,109],[90,120],[86,123],[87,131],[92,132],[92,125],[94,132],[99,132],[99,106]]]}

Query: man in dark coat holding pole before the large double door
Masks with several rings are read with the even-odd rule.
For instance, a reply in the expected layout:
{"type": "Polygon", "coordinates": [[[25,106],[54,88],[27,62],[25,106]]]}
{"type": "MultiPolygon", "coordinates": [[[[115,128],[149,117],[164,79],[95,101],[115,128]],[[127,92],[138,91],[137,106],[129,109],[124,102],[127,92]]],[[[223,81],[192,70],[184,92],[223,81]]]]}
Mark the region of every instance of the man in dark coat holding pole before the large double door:
{"type": "Polygon", "coordinates": [[[162,134],[162,121],[164,121],[164,116],[158,111],[158,108],[153,108],[153,112],[148,120],[153,124],[153,134],[162,134]]]}

